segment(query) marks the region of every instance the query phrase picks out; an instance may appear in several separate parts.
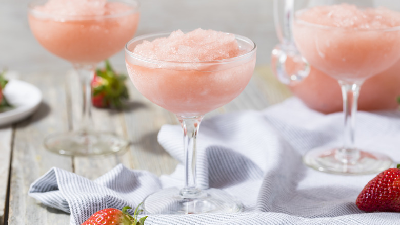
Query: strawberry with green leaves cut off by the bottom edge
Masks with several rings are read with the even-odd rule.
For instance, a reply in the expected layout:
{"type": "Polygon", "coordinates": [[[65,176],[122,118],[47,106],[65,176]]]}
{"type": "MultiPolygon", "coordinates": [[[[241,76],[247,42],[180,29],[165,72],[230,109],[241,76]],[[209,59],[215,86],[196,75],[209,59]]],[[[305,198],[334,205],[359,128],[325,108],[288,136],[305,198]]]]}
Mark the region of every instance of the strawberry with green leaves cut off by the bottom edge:
{"type": "Polygon", "coordinates": [[[137,215],[143,210],[138,210],[139,205],[137,205],[133,216],[131,216],[127,210],[132,209],[128,206],[121,210],[108,208],[95,212],[88,220],[86,220],[81,225],[97,225],[97,224],[121,224],[121,225],[144,225],[147,216],[137,219],[137,215]]]}

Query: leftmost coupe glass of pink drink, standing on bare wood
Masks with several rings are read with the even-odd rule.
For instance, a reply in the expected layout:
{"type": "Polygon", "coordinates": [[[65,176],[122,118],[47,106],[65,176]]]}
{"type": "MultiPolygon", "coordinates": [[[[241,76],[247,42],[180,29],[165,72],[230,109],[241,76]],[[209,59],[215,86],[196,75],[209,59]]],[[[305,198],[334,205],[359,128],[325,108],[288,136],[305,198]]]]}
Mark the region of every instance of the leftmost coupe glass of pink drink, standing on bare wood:
{"type": "Polygon", "coordinates": [[[138,2],[110,1],[114,7],[124,7],[125,10],[93,16],[49,13],[40,10],[45,2],[33,1],[29,4],[31,31],[48,51],[72,63],[79,74],[83,90],[81,127],[72,132],[49,135],[44,141],[46,148],[64,155],[103,155],[124,149],[128,145],[126,140],[93,128],[90,83],[96,65],[123,49],[136,32],[139,21],[138,2]]]}

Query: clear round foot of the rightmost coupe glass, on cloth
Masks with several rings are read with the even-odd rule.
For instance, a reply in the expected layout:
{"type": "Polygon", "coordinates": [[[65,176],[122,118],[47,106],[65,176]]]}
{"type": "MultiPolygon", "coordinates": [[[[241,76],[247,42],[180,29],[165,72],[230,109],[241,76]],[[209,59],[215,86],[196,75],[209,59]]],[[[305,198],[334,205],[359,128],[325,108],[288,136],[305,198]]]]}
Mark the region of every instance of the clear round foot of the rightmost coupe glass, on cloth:
{"type": "Polygon", "coordinates": [[[303,162],[315,170],[343,175],[363,175],[380,173],[389,168],[393,161],[382,154],[356,151],[354,161],[346,162],[343,149],[326,150],[315,148],[303,156],[303,162]],[[358,155],[359,154],[359,155],[358,155]],[[358,157],[359,156],[359,157],[358,157]],[[339,160],[342,159],[342,160],[339,160]]]}

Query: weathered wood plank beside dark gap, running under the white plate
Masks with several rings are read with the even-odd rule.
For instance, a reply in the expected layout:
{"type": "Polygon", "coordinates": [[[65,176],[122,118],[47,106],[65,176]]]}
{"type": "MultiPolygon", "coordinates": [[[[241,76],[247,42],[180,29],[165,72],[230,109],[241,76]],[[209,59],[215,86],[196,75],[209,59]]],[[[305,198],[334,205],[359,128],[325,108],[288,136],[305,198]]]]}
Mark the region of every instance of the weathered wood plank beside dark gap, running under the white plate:
{"type": "Polygon", "coordinates": [[[28,119],[16,125],[11,162],[8,224],[68,224],[69,215],[49,209],[27,195],[30,184],[51,167],[72,170],[71,157],[48,152],[46,135],[68,130],[64,75],[36,73],[25,81],[43,93],[43,102],[28,119]]]}

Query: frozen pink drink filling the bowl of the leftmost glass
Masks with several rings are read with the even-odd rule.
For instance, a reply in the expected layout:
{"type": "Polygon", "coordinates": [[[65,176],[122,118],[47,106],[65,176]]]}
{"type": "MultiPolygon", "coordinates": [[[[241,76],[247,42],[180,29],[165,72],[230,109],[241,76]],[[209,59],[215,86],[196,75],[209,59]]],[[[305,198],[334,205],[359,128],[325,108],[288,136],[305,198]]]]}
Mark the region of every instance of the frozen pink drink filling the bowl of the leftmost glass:
{"type": "Polygon", "coordinates": [[[134,33],[139,13],[123,2],[49,0],[28,15],[37,41],[72,63],[101,62],[121,50],[134,33]]]}

